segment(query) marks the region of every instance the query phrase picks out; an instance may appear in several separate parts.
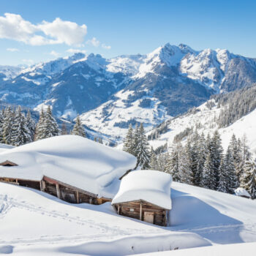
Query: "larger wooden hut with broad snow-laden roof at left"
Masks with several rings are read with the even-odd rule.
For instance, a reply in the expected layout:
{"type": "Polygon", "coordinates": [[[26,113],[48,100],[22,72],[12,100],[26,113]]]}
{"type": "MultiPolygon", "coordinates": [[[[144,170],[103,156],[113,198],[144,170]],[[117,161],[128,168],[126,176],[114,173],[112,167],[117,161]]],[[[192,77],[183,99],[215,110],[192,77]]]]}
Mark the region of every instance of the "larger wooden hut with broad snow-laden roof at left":
{"type": "Polygon", "coordinates": [[[136,158],[124,151],[64,135],[0,153],[0,181],[69,203],[101,204],[112,200],[116,182],[135,165],[136,158]]]}

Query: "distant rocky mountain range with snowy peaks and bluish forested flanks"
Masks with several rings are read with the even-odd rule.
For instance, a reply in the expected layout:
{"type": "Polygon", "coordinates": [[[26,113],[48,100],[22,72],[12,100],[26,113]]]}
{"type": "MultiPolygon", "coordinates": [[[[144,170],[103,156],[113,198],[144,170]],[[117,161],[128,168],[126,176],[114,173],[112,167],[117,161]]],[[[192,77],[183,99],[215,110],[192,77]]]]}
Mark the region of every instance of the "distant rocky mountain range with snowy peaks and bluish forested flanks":
{"type": "Polygon", "coordinates": [[[31,67],[0,66],[0,100],[34,110],[52,105],[59,118],[79,114],[87,127],[123,137],[129,124],[151,129],[212,94],[255,82],[256,59],[167,43],[146,55],[76,53],[31,67]]]}

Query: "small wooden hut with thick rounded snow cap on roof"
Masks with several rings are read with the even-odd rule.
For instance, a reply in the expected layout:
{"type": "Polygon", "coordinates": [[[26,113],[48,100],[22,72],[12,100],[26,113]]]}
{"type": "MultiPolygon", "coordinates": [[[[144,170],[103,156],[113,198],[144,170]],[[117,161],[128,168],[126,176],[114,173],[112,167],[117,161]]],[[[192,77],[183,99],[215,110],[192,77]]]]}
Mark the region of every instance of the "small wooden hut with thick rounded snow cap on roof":
{"type": "Polygon", "coordinates": [[[112,200],[117,214],[155,225],[168,225],[171,209],[170,174],[157,170],[136,170],[121,180],[112,200]]]}

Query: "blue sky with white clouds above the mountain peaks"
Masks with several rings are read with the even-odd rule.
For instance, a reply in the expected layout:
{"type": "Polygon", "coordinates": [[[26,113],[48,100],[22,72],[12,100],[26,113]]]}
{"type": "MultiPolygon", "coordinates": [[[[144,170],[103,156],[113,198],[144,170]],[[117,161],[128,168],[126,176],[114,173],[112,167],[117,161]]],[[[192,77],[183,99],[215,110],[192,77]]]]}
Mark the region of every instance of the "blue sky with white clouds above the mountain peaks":
{"type": "Polygon", "coordinates": [[[246,0],[1,0],[0,64],[37,63],[78,50],[105,57],[148,53],[166,42],[255,58],[255,10],[256,1],[246,0]]]}

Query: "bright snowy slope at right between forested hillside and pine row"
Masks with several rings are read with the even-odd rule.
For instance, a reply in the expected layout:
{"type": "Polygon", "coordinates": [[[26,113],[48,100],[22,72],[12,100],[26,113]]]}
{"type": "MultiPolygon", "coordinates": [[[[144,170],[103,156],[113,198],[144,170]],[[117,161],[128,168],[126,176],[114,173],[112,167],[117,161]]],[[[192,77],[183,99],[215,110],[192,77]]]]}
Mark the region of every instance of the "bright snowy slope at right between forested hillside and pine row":
{"type": "MultiPolygon", "coordinates": [[[[211,99],[210,101],[214,102],[214,99],[211,99]]],[[[149,143],[151,146],[157,148],[165,143],[167,143],[168,146],[171,146],[176,135],[184,131],[186,128],[196,127],[197,124],[201,125],[201,127],[197,129],[199,133],[203,132],[205,135],[208,133],[212,134],[216,129],[218,129],[216,120],[220,111],[222,110],[222,107],[217,108],[217,105],[215,105],[213,108],[209,109],[206,107],[206,105],[207,102],[200,105],[200,107],[195,108],[192,113],[186,113],[182,116],[178,116],[177,118],[173,118],[173,120],[170,120],[170,123],[168,124],[168,131],[162,135],[159,135],[157,140],[150,140],[149,143]]],[[[225,149],[227,148],[233,134],[235,134],[237,138],[242,138],[244,135],[246,135],[246,138],[248,139],[248,146],[250,147],[251,151],[256,154],[255,120],[256,109],[248,115],[240,118],[229,127],[219,129],[219,133],[222,138],[222,146],[225,149]]]]}

